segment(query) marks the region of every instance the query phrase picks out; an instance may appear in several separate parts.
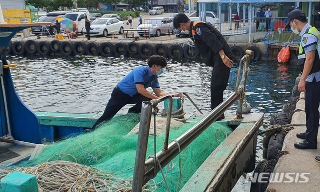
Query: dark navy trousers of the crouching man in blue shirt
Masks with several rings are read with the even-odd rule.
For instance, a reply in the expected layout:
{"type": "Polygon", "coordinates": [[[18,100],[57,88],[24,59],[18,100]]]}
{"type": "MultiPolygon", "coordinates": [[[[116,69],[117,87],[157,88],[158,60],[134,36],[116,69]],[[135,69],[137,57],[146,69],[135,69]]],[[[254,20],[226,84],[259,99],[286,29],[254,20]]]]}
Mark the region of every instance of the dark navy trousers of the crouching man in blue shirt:
{"type": "Polygon", "coordinates": [[[135,104],[129,108],[128,112],[140,113],[142,101],[150,101],[150,98],[144,97],[141,94],[136,94],[133,97],[123,93],[117,86],[113,89],[111,97],[106,104],[104,112],[100,118],[96,120],[91,129],[95,129],[95,126],[104,120],[111,119],[122,107],[126,104],[135,104]]]}

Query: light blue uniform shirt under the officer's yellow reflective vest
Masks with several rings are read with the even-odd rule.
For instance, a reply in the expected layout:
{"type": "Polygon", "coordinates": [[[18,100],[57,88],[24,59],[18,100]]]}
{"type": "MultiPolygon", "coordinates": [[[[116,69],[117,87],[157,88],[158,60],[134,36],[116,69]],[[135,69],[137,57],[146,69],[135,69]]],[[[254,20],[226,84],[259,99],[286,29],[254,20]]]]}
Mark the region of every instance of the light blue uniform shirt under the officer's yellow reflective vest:
{"type": "MultiPolygon", "coordinates": [[[[312,27],[312,26],[310,26],[308,23],[305,24],[305,26],[303,27],[303,29],[301,30],[301,32],[299,34],[301,36],[302,48],[304,50],[304,53],[307,53],[310,51],[315,51],[316,43],[318,41],[314,35],[305,33],[305,31],[310,27],[312,27]]],[[[315,54],[318,54],[318,52],[315,52],[315,54]]],[[[306,77],[305,81],[312,82],[313,78],[315,78],[316,82],[320,81],[320,71],[308,75],[306,77]]]]}

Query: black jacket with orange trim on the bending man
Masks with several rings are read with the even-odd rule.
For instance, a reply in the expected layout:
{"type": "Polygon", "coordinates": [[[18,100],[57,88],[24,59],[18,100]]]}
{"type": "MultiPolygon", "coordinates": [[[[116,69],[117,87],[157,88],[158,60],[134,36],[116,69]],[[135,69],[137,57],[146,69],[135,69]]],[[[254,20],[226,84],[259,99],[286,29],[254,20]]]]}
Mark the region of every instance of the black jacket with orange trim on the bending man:
{"type": "Polygon", "coordinates": [[[206,66],[216,67],[223,64],[218,54],[221,49],[229,59],[233,59],[234,55],[219,31],[206,23],[197,23],[194,27],[192,26],[193,22],[190,24],[190,29],[194,30],[194,34],[190,32],[189,38],[193,39],[206,66]]]}

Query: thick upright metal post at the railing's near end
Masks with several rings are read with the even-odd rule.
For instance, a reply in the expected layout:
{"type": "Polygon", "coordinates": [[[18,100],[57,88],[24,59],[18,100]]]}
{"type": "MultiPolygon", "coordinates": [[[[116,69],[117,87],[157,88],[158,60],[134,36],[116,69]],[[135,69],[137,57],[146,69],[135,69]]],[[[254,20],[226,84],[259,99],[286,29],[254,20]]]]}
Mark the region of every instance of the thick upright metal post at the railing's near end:
{"type": "Polygon", "coordinates": [[[153,103],[142,102],[138,141],[135,153],[132,192],[140,192],[143,186],[144,162],[148,146],[149,129],[153,103]]]}

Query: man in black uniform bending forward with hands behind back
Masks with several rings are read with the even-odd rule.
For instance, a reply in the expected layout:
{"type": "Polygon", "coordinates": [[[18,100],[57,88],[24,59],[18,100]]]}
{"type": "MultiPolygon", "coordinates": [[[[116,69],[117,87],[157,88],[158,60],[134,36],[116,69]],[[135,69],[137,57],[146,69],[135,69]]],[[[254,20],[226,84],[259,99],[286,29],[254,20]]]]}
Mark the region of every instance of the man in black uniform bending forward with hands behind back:
{"type": "MultiPolygon", "coordinates": [[[[232,67],[232,51],[220,32],[204,22],[191,22],[185,14],[178,14],[173,19],[173,27],[189,38],[198,49],[206,66],[212,67],[211,75],[211,110],[223,101],[232,67]],[[190,32],[191,31],[191,32],[190,32]]],[[[217,120],[223,119],[222,114],[217,120]]]]}

